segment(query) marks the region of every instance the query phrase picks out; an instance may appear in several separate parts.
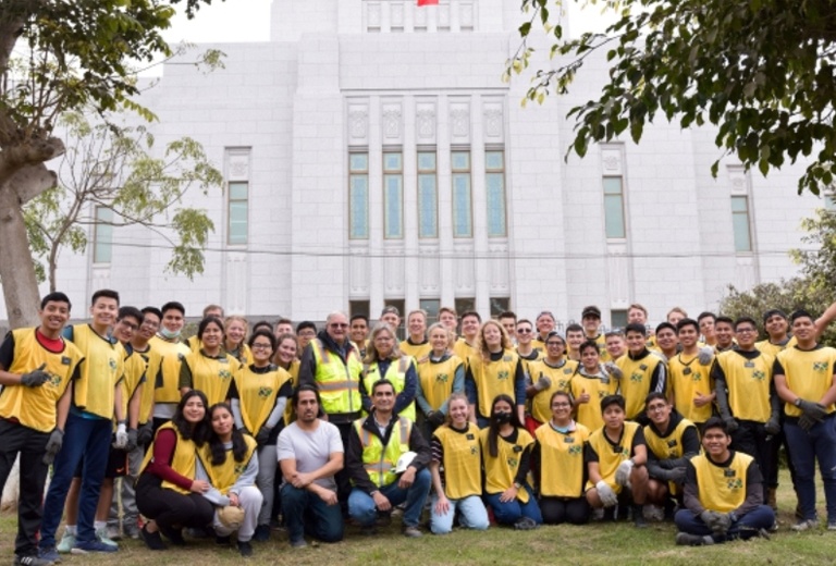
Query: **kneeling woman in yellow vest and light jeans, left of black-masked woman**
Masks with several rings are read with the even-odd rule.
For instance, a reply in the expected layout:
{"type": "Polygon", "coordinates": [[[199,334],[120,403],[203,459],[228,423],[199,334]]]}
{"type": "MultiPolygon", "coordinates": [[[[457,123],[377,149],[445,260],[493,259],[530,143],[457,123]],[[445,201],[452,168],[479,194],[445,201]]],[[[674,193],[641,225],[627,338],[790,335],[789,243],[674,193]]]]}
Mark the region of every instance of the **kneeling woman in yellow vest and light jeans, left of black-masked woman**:
{"type": "Polygon", "coordinates": [[[453,530],[456,510],[463,527],[485,530],[490,526],[488,509],[482,503],[479,429],[467,420],[467,397],[454,393],[450,397],[447,423],[435,429],[430,443],[430,473],[435,488],[430,507],[433,534],[453,530]]]}

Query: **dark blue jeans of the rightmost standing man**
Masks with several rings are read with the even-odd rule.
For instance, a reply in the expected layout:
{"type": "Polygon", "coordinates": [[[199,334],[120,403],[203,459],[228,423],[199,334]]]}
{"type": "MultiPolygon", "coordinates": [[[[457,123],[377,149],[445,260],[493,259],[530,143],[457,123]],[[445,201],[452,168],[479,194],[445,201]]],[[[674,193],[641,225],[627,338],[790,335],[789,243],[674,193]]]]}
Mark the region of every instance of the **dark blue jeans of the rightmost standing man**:
{"type": "Polygon", "coordinates": [[[787,419],[784,434],[796,470],[795,488],[804,519],[815,519],[815,460],[819,459],[827,522],[836,522],[836,418],[826,418],[809,431],[799,427],[796,419],[787,419]]]}

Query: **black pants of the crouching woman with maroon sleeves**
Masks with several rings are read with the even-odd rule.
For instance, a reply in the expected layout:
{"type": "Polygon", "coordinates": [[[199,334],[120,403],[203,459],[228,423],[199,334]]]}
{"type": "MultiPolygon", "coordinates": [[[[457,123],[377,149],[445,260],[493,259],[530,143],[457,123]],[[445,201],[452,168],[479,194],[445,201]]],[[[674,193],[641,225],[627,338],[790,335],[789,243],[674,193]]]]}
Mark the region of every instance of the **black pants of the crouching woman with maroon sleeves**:
{"type": "Polygon", "coordinates": [[[136,482],[136,506],[139,513],[163,528],[211,526],[214,506],[198,493],[183,494],[161,487],[157,476],[143,473],[136,482]]]}

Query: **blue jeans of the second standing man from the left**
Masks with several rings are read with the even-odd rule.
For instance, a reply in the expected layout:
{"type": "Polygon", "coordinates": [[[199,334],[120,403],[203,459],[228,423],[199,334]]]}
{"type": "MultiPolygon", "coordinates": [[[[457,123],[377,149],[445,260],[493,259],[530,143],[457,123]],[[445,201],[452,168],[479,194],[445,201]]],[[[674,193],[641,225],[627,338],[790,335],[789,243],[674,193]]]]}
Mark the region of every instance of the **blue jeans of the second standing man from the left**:
{"type": "Polygon", "coordinates": [[[110,419],[85,419],[70,413],[64,426],[64,442],[52,464],[52,481],[44,501],[44,520],[40,526],[40,547],[56,545],[56,531],[64,514],[66,492],[78,463],[82,464],[82,491],[78,497],[79,543],[96,540],[93,521],[99,503],[101,480],[110,454],[110,436],[113,423],[110,419]]]}

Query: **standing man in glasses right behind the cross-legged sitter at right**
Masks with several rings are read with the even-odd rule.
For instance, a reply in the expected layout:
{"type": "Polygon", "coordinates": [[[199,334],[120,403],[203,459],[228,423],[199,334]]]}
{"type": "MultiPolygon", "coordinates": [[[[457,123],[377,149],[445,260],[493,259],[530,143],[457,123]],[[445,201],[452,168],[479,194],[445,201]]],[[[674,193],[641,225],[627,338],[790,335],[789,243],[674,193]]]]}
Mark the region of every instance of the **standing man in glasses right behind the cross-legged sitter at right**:
{"type": "MultiPolygon", "coordinates": [[[[712,373],[720,416],[732,435],[732,450],[749,454],[769,478],[777,465],[772,450],[780,432],[780,401],[772,383],[775,358],[754,347],[758,325],[749,317],[735,321],[737,347],[715,358],[712,373]]],[[[770,501],[764,482],[764,500],[770,501]]]]}

